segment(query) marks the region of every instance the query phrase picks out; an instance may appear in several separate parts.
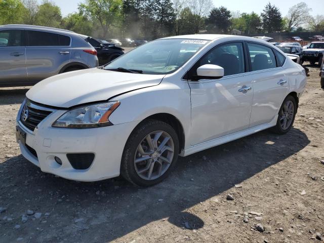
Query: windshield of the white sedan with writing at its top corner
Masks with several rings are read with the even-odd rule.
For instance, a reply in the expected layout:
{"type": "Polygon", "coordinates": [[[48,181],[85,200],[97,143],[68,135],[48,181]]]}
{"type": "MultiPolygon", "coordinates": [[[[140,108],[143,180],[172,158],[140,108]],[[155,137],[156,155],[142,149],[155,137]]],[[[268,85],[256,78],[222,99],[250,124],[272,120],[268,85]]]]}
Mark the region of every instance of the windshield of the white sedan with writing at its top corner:
{"type": "Polygon", "coordinates": [[[185,64],[209,41],[200,39],[159,39],[115,59],[104,69],[126,68],[144,74],[168,74],[185,64]]]}

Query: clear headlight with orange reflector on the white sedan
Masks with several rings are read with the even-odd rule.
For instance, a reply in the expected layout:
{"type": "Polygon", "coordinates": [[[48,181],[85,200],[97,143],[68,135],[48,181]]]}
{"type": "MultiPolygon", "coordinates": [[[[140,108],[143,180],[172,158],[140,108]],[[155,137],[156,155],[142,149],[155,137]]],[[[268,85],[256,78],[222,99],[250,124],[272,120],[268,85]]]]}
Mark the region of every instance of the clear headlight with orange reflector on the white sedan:
{"type": "Polygon", "coordinates": [[[119,101],[113,101],[74,108],[58,118],[52,127],[98,128],[111,126],[112,123],[109,121],[109,116],[119,104],[119,101]]]}

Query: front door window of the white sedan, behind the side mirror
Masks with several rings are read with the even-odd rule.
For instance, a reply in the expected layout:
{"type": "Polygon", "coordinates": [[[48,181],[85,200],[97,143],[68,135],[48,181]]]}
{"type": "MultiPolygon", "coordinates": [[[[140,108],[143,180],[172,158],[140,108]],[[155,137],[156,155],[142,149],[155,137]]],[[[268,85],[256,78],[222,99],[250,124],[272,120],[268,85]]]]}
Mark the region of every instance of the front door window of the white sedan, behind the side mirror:
{"type": "Polygon", "coordinates": [[[215,47],[196,62],[188,73],[189,77],[196,76],[197,68],[205,64],[213,64],[223,67],[224,76],[244,73],[245,61],[243,44],[228,43],[215,47]]]}

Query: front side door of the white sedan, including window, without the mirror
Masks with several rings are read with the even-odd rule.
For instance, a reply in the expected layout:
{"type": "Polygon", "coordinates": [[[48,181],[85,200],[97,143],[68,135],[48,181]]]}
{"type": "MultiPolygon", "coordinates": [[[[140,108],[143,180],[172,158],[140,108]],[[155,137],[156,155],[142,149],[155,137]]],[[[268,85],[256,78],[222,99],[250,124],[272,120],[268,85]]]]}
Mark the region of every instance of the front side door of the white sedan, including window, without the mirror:
{"type": "Polygon", "coordinates": [[[191,145],[249,128],[253,90],[244,49],[243,42],[220,44],[186,74],[191,89],[191,145]],[[222,66],[225,76],[197,80],[196,70],[204,64],[222,66]]]}

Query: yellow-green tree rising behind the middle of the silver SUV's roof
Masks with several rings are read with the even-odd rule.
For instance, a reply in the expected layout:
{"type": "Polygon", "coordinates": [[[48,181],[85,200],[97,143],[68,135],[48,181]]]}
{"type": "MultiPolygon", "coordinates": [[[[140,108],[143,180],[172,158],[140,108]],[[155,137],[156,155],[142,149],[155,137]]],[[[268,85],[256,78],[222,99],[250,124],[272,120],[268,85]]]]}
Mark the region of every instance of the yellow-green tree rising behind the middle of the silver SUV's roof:
{"type": "Polygon", "coordinates": [[[38,8],[36,24],[59,28],[62,20],[61,9],[49,0],[44,0],[38,8]]]}

